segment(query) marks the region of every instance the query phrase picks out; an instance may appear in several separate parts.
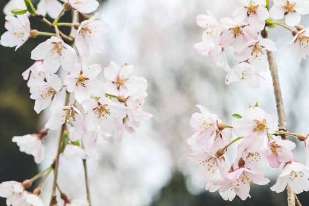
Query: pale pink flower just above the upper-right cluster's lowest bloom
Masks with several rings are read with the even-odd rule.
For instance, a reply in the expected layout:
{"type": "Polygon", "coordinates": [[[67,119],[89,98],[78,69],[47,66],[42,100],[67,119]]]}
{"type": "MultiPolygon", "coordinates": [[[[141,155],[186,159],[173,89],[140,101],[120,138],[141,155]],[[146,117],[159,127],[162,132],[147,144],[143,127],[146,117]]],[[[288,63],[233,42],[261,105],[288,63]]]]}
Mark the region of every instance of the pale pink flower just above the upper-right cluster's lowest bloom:
{"type": "Polygon", "coordinates": [[[276,43],[270,39],[252,40],[245,44],[239,53],[235,52],[236,60],[243,62],[248,61],[255,72],[265,72],[268,68],[266,50],[272,52],[277,50],[276,43]]]}

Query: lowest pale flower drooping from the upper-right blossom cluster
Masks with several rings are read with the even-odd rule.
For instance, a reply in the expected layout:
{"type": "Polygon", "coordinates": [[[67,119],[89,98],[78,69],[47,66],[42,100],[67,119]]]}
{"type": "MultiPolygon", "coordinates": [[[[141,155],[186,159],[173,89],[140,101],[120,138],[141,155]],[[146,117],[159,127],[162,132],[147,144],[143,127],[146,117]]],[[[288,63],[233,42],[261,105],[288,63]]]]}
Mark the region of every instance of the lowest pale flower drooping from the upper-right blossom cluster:
{"type": "Polygon", "coordinates": [[[258,88],[261,86],[260,78],[264,79],[258,72],[256,72],[253,66],[248,62],[241,62],[235,65],[226,75],[225,83],[230,83],[246,80],[248,86],[258,88]]]}

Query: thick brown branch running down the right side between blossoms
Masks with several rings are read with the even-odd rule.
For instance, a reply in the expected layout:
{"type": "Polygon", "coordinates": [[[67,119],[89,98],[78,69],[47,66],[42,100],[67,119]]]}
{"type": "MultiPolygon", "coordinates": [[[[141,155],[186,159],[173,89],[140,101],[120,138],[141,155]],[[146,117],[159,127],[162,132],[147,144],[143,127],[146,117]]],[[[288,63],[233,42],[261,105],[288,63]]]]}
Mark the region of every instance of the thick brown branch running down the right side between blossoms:
{"type": "MultiPolygon", "coordinates": [[[[263,38],[268,38],[268,31],[266,28],[261,32],[261,35],[263,38]]],[[[272,78],[273,78],[273,86],[274,86],[274,93],[276,98],[276,107],[277,107],[277,113],[278,113],[278,128],[281,131],[287,131],[286,126],[286,119],[285,119],[285,113],[284,113],[284,107],[283,107],[283,101],[282,101],[282,94],[281,94],[281,88],[280,88],[280,82],[278,77],[278,68],[277,64],[274,59],[274,55],[272,52],[267,50],[267,57],[269,62],[269,70],[271,72],[272,78]]],[[[281,135],[282,139],[287,140],[287,135],[281,135]]],[[[295,193],[290,188],[289,185],[286,186],[287,190],[287,200],[288,200],[288,206],[295,206],[295,193]]]]}

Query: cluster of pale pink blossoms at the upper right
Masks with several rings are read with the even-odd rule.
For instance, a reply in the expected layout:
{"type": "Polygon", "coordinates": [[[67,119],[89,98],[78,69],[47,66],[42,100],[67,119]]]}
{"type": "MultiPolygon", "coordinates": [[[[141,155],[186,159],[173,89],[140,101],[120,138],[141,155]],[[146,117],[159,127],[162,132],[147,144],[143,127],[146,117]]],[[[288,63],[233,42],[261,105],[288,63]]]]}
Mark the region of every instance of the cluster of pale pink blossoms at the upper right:
{"type": "Polygon", "coordinates": [[[259,87],[263,72],[268,70],[266,50],[276,51],[276,44],[270,39],[260,36],[266,26],[295,26],[291,30],[294,38],[287,46],[292,48],[292,57],[296,64],[306,59],[309,54],[309,28],[297,25],[300,15],[309,13],[307,0],[274,0],[274,5],[268,11],[266,0],[242,0],[232,18],[217,20],[211,11],[207,15],[198,15],[196,24],[204,28],[202,42],[194,44],[194,48],[203,56],[227,71],[225,83],[230,84],[246,80],[251,87],[259,87]],[[285,22],[274,22],[282,19],[285,22]],[[227,63],[226,49],[233,46],[234,59],[239,63],[230,68],[227,63]]]}

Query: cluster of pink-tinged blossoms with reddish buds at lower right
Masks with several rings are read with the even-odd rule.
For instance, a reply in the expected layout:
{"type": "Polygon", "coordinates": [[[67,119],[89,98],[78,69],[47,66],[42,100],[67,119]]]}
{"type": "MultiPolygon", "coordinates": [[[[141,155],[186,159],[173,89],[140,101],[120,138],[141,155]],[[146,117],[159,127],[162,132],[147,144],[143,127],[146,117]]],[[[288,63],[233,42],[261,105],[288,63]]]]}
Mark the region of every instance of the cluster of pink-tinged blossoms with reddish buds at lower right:
{"type": "MultiPolygon", "coordinates": [[[[201,113],[194,113],[190,120],[197,133],[188,139],[194,152],[187,157],[200,165],[202,176],[208,181],[206,190],[219,190],[225,200],[232,201],[236,194],[245,200],[250,197],[251,183],[269,183],[269,179],[264,177],[265,168],[279,168],[281,164],[284,164],[283,171],[271,190],[282,192],[287,185],[297,194],[309,190],[308,165],[294,160],[291,151],[295,148],[294,142],[271,135],[282,132],[276,131],[274,119],[264,110],[249,108],[245,118],[235,114],[237,119],[228,126],[204,107],[197,107],[201,113]],[[232,140],[232,134],[237,138],[232,140]],[[225,152],[238,140],[241,142],[237,146],[237,157],[228,167],[225,152]]],[[[307,138],[303,134],[294,136],[306,145],[307,138]]],[[[309,155],[308,147],[306,152],[309,155]]]]}

